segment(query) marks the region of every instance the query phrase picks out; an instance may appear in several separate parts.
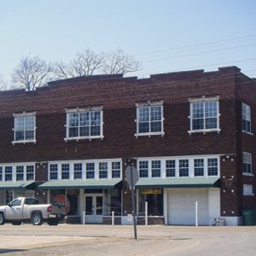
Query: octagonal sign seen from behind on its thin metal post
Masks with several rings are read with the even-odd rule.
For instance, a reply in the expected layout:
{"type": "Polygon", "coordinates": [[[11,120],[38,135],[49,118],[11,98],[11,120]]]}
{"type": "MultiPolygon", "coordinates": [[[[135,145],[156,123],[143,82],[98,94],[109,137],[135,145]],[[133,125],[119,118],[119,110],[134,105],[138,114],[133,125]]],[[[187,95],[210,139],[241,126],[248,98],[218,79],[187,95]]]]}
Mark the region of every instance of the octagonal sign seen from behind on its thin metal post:
{"type": "Polygon", "coordinates": [[[126,182],[131,187],[131,204],[132,204],[132,216],[133,216],[133,227],[134,227],[134,239],[137,239],[137,224],[135,216],[135,201],[134,201],[134,185],[138,181],[138,172],[134,166],[128,166],[125,170],[126,182]]]}

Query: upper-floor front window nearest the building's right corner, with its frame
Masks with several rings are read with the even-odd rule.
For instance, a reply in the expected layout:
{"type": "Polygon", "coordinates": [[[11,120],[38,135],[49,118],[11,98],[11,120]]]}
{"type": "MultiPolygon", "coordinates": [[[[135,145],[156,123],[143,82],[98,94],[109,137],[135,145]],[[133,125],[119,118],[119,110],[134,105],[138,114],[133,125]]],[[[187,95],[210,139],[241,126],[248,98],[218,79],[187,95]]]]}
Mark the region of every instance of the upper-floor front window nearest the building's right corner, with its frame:
{"type": "Polygon", "coordinates": [[[218,97],[189,99],[190,102],[190,131],[206,132],[220,131],[218,97]]]}

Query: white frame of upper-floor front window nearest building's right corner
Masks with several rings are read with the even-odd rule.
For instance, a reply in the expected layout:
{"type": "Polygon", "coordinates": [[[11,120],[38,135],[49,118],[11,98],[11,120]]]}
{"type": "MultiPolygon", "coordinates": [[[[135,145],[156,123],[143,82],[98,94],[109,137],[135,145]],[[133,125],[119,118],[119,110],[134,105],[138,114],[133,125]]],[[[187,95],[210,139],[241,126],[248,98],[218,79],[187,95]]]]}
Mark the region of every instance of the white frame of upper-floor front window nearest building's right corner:
{"type": "Polygon", "coordinates": [[[189,131],[188,133],[196,133],[196,132],[202,132],[202,133],[206,133],[206,132],[211,132],[211,131],[217,131],[218,133],[221,131],[219,128],[219,96],[215,96],[215,97],[206,97],[206,96],[202,96],[201,98],[189,98],[189,131]],[[206,129],[206,115],[205,115],[205,103],[206,102],[216,102],[217,103],[217,127],[213,128],[213,129],[206,129]],[[204,128],[203,129],[198,129],[198,130],[193,130],[193,104],[195,103],[204,103],[204,128]]]}

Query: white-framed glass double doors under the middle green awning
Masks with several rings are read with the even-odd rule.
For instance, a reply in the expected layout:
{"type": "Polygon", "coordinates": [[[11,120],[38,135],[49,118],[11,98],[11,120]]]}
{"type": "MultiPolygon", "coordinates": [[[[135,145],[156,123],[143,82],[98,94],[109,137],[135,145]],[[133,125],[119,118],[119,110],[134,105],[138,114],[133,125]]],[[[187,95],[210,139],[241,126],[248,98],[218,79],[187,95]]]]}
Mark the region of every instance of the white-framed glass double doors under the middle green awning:
{"type": "Polygon", "coordinates": [[[102,195],[85,195],[85,223],[102,223],[102,195]]]}

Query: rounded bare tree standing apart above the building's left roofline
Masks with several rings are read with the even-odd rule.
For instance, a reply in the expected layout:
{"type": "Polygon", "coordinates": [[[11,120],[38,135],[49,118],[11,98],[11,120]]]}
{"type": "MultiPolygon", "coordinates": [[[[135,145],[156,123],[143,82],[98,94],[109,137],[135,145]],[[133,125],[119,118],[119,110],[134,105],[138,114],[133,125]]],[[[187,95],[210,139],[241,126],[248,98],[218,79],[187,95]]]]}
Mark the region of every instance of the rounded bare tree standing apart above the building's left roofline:
{"type": "Polygon", "coordinates": [[[52,67],[38,56],[26,55],[21,58],[12,74],[13,83],[26,90],[35,90],[49,81],[52,67]]]}

